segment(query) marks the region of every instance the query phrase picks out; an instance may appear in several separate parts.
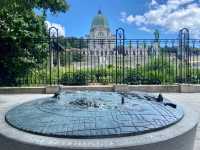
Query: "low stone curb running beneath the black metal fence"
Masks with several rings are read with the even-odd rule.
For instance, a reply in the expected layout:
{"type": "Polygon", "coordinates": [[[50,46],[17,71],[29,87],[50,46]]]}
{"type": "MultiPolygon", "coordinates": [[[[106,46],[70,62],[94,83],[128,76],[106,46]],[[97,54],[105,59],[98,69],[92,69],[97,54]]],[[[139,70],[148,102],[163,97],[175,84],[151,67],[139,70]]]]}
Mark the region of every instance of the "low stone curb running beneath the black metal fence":
{"type": "MultiPolygon", "coordinates": [[[[64,90],[97,90],[97,91],[141,91],[162,93],[200,93],[200,84],[175,85],[89,85],[62,86],[64,90]]],[[[0,87],[0,94],[53,94],[59,86],[47,87],[0,87]]]]}

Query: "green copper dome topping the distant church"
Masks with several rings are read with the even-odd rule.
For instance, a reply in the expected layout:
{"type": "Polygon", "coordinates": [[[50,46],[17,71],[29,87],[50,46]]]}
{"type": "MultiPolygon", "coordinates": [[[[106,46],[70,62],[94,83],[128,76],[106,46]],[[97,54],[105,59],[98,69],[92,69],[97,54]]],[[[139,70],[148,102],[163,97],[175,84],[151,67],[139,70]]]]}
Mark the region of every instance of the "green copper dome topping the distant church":
{"type": "Polygon", "coordinates": [[[107,18],[102,15],[102,12],[99,10],[97,16],[94,17],[91,25],[91,29],[94,28],[109,28],[107,18]]]}

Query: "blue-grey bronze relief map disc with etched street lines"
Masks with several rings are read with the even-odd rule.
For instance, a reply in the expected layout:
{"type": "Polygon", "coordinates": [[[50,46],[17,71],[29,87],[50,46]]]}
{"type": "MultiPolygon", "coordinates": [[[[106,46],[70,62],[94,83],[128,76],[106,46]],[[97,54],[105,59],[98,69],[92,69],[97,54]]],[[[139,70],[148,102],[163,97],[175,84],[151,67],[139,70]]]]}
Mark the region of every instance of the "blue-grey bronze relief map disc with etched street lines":
{"type": "Polygon", "coordinates": [[[15,107],[6,114],[6,121],[46,136],[102,138],[166,128],[183,114],[179,106],[148,95],[68,92],[15,107]]]}

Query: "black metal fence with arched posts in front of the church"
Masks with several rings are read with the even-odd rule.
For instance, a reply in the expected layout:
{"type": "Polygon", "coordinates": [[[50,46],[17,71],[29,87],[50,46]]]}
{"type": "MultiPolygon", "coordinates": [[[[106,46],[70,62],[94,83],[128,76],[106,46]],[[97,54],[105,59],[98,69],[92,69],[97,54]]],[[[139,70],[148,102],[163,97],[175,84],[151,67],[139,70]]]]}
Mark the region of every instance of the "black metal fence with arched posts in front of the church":
{"type": "Polygon", "coordinates": [[[116,35],[44,40],[45,61],[19,77],[16,85],[200,82],[200,40],[190,39],[187,29],[177,39],[125,39],[123,29],[116,35]]]}

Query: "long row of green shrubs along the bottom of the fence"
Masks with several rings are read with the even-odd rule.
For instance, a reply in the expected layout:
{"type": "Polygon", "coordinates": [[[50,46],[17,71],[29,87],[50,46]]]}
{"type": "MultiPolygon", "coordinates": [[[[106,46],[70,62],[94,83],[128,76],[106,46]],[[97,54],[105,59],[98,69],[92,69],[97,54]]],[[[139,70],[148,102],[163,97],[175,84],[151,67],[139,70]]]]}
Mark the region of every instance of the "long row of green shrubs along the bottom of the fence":
{"type": "MultiPolygon", "coordinates": [[[[174,84],[174,83],[199,83],[200,70],[192,70],[192,74],[188,80],[185,76],[186,70],[182,69],[183,76],[180,76],[180,70],[176,77],[176,70],[174,64],[169,66],[166,59],[151,60],[145,66],[138,68],[125,68],[124,77],[123,69],[116,66],[107,66],[99,68],[85,68],[78,70],[73,68],[62,67],[60,68],[60,79],[58,78],[58,68],[52,68],[52,84],[64,84],[64,85],[87,85],[89,83],[100,83],[103,85],[112,83],[124,83],[124,84],[174,84]],[[155,65],[162,61],[161,65],[157,68],[155,65]],[[156,63],[154,63],[156,62],[156,63]],[[63,70],[63,71],[62,71],[63,70]]],[[[50,83],[50,72],[45,69],[40,71],[33,70],[29,75],[29,81],[32,85],[41,85],[50,83]]],[[[30,83],[30,85],[31,85],[30,83]]],[[[27,85],[27,84],[26,84],[27,85]]]]}

